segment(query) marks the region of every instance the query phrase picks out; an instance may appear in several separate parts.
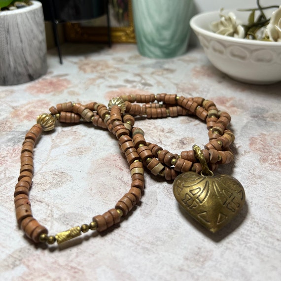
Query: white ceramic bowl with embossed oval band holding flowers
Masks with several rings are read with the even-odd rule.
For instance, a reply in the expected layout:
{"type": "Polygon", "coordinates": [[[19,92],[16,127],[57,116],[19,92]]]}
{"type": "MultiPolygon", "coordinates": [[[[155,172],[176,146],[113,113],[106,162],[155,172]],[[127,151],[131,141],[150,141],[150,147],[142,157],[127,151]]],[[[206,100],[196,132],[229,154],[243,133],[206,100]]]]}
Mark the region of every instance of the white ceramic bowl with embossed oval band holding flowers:
{"type": "MultiPolygon", "coordinates": [[[[237,19],[247,22],[247,12],[233,12],[237,19]]],[[[190,26],[198,36],[208,59],[218,70],[235,80],[251,84],[281,81],[281,42],[215,34],[211,31],[210,24],[218,20],[218,11],[197,14],[190,20],[190,26]]]]}

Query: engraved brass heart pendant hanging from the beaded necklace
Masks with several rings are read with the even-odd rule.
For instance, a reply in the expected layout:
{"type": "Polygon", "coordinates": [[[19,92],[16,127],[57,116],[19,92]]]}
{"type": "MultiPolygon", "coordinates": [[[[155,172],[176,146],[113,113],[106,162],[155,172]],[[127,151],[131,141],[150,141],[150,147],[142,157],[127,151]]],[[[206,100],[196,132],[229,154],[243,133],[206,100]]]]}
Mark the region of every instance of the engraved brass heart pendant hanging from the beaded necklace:
{"type": "Polygon", "coordinates": [[[234,218],[245,203],[242,184],[228,175],[186,172],[176,177],[173,191],[178,203],[212,233],[234,218]]]}

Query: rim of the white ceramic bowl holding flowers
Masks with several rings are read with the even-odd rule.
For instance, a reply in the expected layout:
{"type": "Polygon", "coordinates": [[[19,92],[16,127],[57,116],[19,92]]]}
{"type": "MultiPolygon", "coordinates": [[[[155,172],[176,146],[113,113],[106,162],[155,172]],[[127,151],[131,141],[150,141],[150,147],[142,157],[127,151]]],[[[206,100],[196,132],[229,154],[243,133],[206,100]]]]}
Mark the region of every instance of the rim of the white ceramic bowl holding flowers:
{"type": "MultiPolygon", "coordinates": [[[[229,12],[231,10],[225,9],[224,11],[229,12]]],[[[232,42],[232,43],[241,43],[241,44],[245,44],[245,45],[281,47],[281,42],[250,40],[250,39],[245,39],[245,38],[235,38],[235,37],[231,37],[231,36],[220,35],[220,34],[211,32],[209,30],[206,30],[198,25],[198,23],[197,23],[198,19],[202,20],[204,17],[212,16],[212,15],[218,16],[219,11],[217,10],[217,11],[202,12],[202,13],[194,15],[190,19],[190,22],[189,22],[190,27],[193,29],[194,32],[198,32],[200,34],[203,34],[203,35],[206,35],[206,36],[209,36],[212,38],[216,38],[218,40],[228,41],[228,42],[232,42]]],[[[215,21],[215,19],[213,19],[213,21],[215,21]]],[[[210,22],[210,24],[211,24],[211,22],[210,22]]]]}

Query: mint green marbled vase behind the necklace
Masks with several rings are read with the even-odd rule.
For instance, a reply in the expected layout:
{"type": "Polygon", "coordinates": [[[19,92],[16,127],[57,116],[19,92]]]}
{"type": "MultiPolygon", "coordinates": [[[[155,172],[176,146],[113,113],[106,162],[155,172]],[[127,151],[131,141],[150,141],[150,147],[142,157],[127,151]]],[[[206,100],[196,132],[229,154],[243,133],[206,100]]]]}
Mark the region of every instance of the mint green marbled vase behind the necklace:
{"type": "Polygon", "coordinates": [[[132,3],[142,56],[173,58],[186,52],[193,0],[132,0],[132,3]]]}

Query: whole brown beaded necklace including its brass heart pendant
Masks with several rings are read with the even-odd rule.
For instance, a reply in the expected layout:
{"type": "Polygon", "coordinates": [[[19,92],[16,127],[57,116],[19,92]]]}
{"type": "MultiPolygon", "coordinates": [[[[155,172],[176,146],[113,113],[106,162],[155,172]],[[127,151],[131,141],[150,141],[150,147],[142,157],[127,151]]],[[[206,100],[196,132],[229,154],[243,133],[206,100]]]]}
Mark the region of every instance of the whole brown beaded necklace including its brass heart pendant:
{"type": "Polygon", "coordinates": [[[233,160],[229,145],[234,141],[234,135],[227,129],[230,115],[218,111],[211,101],[169,94],[129,95],[112,99],[108,107],[94,102],[87,105],[68,102],[52,106],[49,110],[51,114],[38,116],[37,124],[25,136],[20,176],[14,192],[18,225],[35,243],[54,244],[57,241],[61,244],[81,235],[81,232],[102,232],[119,223],[121,217],[125,217],[140,201],[144,188],[144,167],[155,176],[164,177],[169,182],[174,180],[173,191],[178,203],[211,232],[226,225],[245,203],[245,192],[237,179],[213,175],[219,164],[228,164],[233,160]],[[205,149],[194,145],[192,150],[177,155],[157,144],[146,142],[144,132],[134,127],[134,116],[165,118],[187,114],[206,121],[210,141],[205,149]],[[29,200],[35,142],[42,131],[53,130],[56,121],[79,123],[81,120],[107,128],[116,136],[130,166],[131,187],[115,208],[94,216],[89,224],[49,236],[47,228],[33,217],[29,200]]]}

